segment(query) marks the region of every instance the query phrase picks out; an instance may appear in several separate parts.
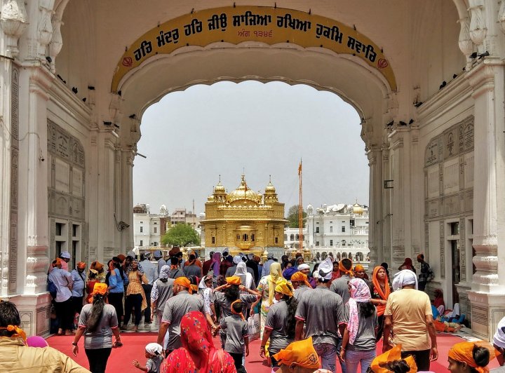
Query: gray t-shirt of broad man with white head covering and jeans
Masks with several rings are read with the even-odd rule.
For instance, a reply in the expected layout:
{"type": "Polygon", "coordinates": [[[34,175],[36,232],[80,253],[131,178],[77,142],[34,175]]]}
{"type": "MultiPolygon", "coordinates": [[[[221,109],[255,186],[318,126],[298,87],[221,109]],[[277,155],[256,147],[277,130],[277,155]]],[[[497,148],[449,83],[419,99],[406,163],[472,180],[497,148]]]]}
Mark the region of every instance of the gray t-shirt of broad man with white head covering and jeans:
{"type": "Polygon", "coordinates": [[[323,285],[304,292],[298,301],[296,318],[305,322],[305,337],[314,344],[337,344],[338,325],[344,323],[342,297],[323,285]]]}

